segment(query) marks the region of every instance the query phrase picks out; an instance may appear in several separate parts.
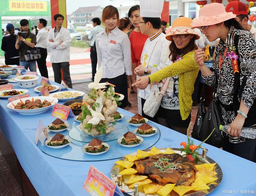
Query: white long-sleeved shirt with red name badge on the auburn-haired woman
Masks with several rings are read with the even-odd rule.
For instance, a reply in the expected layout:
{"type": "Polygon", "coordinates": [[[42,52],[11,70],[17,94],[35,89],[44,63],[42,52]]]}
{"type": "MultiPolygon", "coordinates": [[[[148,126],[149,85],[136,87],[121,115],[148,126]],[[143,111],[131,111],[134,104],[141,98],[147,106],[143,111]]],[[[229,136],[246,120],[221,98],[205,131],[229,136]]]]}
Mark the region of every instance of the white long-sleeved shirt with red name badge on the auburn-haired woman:
{"type": "Polygon", "coordinates": [[[107,36],[106,28],[96,35],[98,65],[103,66],[102,78],[115,78],[131,71],[131,43],[126,33],[116,26],[107,36]]]}

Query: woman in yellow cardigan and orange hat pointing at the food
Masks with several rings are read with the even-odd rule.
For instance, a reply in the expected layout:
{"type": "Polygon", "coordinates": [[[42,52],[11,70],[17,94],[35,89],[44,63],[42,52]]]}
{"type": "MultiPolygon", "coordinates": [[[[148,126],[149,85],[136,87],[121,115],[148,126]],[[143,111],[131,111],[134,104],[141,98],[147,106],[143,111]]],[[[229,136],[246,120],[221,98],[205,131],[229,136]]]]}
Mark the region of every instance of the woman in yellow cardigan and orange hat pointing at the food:
{"type": "Polygon", "coordinates": [[[192,93],[199,68],[194,54],[199,35],[191,29],[192,19],[179,17],[173,21],[172,29],[166,29],[166,39],[171,41],[167,55],[162,53],[160,71],[141,77],[136,85],[145,89],[150,82],[166,81],[171,77],[157,113],[158,123],[186,134],[191,120],[192,93]]]}

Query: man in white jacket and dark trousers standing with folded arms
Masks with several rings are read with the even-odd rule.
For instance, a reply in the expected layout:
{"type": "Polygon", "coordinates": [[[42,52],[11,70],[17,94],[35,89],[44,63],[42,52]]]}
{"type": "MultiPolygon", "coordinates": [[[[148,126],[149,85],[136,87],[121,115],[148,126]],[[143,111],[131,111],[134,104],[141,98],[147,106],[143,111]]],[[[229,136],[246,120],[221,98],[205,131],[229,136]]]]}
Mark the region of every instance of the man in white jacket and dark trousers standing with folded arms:
{"type": "Polygon", "coordinates": [[[69,71],[71,36],[68,29],[64,28],[64,16],[56,14],[53,16],[55,27],[48,32],[48,47],[51,48],[50,62],[54,73],[54,81],[61,83],[61,69],[64,82],[72,88],[72,81],[69,71]]]}

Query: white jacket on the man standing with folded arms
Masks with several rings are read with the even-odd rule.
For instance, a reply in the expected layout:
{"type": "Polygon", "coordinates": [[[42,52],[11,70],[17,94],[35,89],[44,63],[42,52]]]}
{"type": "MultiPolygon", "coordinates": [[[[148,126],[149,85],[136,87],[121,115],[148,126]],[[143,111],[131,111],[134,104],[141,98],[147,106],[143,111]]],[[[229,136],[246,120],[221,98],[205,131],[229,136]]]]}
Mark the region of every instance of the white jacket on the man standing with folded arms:
{"type": "Polygon", "coordinates": [[[51,48],[51,63],[61,63],[69,62],[69,51],[70,51],[71,36],[68,29],[61,27],[59,33],[54,37],[54,28],[48,32],[47,44],[51,48]],[[49,42],[50,39],[53,39],[54,42],[49,42]],[[60,39],[63,41],[59,45],[60,39]]]}

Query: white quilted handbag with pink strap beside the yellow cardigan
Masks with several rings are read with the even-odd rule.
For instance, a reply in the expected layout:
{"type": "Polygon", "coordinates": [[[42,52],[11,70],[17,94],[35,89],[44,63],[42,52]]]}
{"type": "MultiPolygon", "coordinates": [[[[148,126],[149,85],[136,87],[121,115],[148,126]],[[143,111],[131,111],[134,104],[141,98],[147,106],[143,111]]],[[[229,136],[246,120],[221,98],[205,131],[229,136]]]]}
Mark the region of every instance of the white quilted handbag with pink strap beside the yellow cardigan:
{"type": "Polygon", "coordinates": [[[164,83],[164,86],[162,87],[161,92],[159,91],[159,89],[157,89],[151,95],[149,95],[143,106],[144,114],[152,118],[156,115],[160,107],[164,93],[168,87],[169,81],[170,78],[167,78],[166,82],[164,83]]]}

